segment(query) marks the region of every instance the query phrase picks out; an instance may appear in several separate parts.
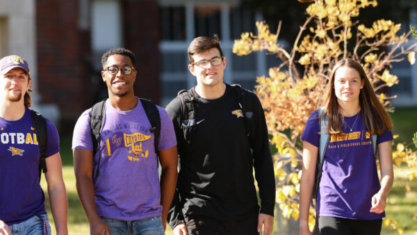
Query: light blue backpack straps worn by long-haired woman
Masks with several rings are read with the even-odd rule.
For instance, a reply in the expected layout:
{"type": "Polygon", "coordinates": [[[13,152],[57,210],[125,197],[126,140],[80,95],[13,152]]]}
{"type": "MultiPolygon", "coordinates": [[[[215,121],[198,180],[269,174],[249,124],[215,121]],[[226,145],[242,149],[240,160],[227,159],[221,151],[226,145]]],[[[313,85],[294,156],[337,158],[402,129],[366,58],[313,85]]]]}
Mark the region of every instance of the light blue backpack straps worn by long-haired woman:
{"type": "MultiPolygon", "coordinates": [[[[323,115],[323,112],[323,108],[318,110],[318,116],[320,117],[320,143],[318,145],[318,161],[316,163],[316,178],[313,185],[313,199],[317,197],[318,185],[320,184],[322,174],[323,161],[325,159],[325,152],[330,139],[329,133],[327,132],[327,115],[323,115]]],[[[371,142],[373,145],[373,153],[375,156],[377,156],[377,135],[372,135],[371,142]]]]}

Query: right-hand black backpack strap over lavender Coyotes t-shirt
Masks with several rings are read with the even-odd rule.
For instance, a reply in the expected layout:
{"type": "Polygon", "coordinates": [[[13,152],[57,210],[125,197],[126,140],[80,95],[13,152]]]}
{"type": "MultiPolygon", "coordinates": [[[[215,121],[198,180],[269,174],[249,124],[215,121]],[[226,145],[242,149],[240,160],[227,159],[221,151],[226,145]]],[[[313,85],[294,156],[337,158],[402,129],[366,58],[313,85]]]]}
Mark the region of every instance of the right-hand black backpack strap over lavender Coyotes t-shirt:
{"type": "Polygon", "coordinates": [[[140,98],[140,103],[142,103],[147,119],[151,123],[152,128],[149,129],[149,131],[154,133],[155,154],[156,156],[159,156],[158,146],[159,137],[161,136],[161,116],[159,115],[158,107],[156,107],[149,99],[140,98]]]}

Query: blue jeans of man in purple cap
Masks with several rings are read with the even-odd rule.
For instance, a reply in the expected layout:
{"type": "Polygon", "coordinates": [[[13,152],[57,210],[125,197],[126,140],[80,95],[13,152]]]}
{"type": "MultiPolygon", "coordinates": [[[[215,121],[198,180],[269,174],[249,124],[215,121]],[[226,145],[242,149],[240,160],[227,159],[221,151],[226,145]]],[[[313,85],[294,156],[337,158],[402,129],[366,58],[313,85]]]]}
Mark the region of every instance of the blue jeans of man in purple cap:
{"type": "Polygon", "coordinates": [[[9,228],[13,235],[51,235],[51,226],[46,213],[33,216],[18,224],[10,225],[9,228]]]}

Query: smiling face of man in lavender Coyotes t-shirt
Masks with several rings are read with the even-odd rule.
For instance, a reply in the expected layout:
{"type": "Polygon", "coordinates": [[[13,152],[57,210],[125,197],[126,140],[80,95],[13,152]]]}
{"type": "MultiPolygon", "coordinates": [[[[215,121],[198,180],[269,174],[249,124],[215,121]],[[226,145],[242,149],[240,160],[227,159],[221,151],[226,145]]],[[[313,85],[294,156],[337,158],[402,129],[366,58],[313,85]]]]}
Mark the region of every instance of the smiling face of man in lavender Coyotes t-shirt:
{"type": "Polygon", "coordinates": [[[107,85],[109,97],[124,97],[126,95],[133,95],[133,83],[135,82],[137,74],[136,70],[133,70],[129,75],[125,75],[121,70],[119,70],[117,71],[117,74],[113,75],[106,70],[106,68],[110,66],[133,67],[129,56],[118,54],[108,56],[106,64],[104,65],[104,71],[101,71],[101,77],[107,85]]]}

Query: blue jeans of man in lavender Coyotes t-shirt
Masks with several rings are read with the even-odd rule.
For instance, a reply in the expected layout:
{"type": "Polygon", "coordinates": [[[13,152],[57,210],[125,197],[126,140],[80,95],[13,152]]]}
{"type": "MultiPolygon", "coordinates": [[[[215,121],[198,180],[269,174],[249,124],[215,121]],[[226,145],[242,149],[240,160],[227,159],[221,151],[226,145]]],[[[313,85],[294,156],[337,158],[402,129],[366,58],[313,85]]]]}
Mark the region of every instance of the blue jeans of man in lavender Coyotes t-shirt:
{"type": "Polygon", "coordinates": [[[106,222],[110,228],[112,235],[164,235],[163,224],[161,216],[155,216],[152,218],[146,218],[143,220],[113,220],[110,218],[100,217],[101,220],[106,222]]]}

